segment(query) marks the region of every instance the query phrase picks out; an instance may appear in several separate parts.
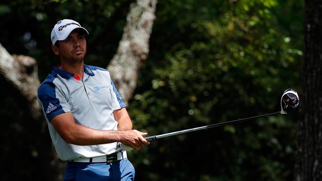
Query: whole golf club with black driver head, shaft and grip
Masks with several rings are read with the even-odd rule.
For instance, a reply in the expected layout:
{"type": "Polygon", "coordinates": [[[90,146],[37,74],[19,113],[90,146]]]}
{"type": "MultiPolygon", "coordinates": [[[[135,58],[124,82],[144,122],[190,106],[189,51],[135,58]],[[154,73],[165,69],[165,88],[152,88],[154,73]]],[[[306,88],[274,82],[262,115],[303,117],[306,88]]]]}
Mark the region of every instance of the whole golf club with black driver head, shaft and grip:
{"type": "MultiPolygon", "coordinates": [[[[148,136],[144,137],[147,141],[154,140],[154,139],[159,139],[162,137],[168,137],[168,136],[174,136],[174,135],[180,135],[184,133],[189,133],[189,132],[194,132],[194,131],[199,131],[199,130],[204,130],[208,128],[214,128],[218,126],[223,126],[223,125],[228,125],[232,123],[238,123],[242,121],[247,121],[247,120],[253,120],[256,118],[261,118],[261,117],[266,117],[266,116],[272,116],[272,115],[277,115],[277,114],[288,114],[291,111],[293,111],[300,103],[300,98],[297,94],[297,92],[293,89],[287,89],[283,92],[283,95],[280,100],[280,105],[281,105],[281,111],[274,112],[274,113],[269,113],[269,114],[264,114],[260,116],[254,116],[254,117],[249,117],[249,118],[243,118],[243,119],[237,119],[233,121],[226,121],[222,123],[216,123],[208,126],[202,126],[198,128],[191,128],[187,130],[182,130],[182,131],[177,131],[177,132],[171,132],[171,133],[166,133],[162,135],[155,135],[155,136],[148,136]]],[[[131,150],[132,148],[123,144],[120,144],[120,147],[122,147],[124,150],[131,150]]]]}

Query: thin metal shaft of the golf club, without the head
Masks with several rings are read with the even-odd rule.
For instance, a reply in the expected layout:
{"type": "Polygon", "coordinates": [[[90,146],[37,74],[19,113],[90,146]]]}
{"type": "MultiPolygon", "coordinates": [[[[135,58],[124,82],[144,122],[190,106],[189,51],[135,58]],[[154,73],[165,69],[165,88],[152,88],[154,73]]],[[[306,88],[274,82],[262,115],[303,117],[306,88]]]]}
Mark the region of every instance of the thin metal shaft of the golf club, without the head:
{"type": "Polygon", "coordinates": [[[208,129],[208,128],[214,128],[214,127],[218,127],[218,126],[228,125],[228,124],[232,124],[232,123],[238,123],[238,122],[242,122],[242,121],[253,120],[253,119],[256,119],[256,118],[261,118],[261,117],[265,117],[265,116],[276,115],[276,114],[280,114],[280,113],[281,112],[279,111],[279,112],[275,112],[275,113],[269,113],[269,114],[260,115],[260,116],[254,116],[254,117],[249,117],[249,118],[237,119],[237,120],[233,120],[233,121],[226,121],[226,122],[222,122],[222,123],[216,123],[216,124],[213,124],[213,125],[202,126],[202,127],[198,127],[198,128],[191,128],[191,129],[187,129],[187,130],[182,130],[182,131],[177,131],[177,132],[171,132],[171,133],[166,133],[166,134],[162,134],[162,135],[148,136],[148,137],[145,137],[145,139],[147,141],[150,141],[150,140],[159,139],[159,138],[162,138],[162,137],[180,135],[180,134],[184,134],[184,133],[188,133],[188,132],[194,132],[194,131],[204,130],[204,129],[208,129]]]}

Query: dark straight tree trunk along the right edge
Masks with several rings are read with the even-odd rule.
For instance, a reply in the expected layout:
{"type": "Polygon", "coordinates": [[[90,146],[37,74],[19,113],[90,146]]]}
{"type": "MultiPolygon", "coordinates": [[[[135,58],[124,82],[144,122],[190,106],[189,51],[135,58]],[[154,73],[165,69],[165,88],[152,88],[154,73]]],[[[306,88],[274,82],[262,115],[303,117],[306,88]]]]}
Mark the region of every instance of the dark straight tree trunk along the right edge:
{"type": "Polygon", "coordinates": [[[322,0],[306,0],[296,181],[322,180],[322,0]]]}

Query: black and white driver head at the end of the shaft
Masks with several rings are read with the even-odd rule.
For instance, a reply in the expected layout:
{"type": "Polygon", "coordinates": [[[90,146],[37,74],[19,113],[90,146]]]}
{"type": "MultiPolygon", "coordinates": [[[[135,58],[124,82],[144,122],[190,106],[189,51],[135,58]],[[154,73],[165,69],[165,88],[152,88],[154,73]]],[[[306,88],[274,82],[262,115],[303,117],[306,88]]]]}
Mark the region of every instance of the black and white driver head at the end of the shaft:
{"type": "Polygon", "coordinates": [[[280,100],[281,114],[288,114],[293,111],[300,103],[297,92],[293,89],[287,89],[283,92],[280,100]]]}

